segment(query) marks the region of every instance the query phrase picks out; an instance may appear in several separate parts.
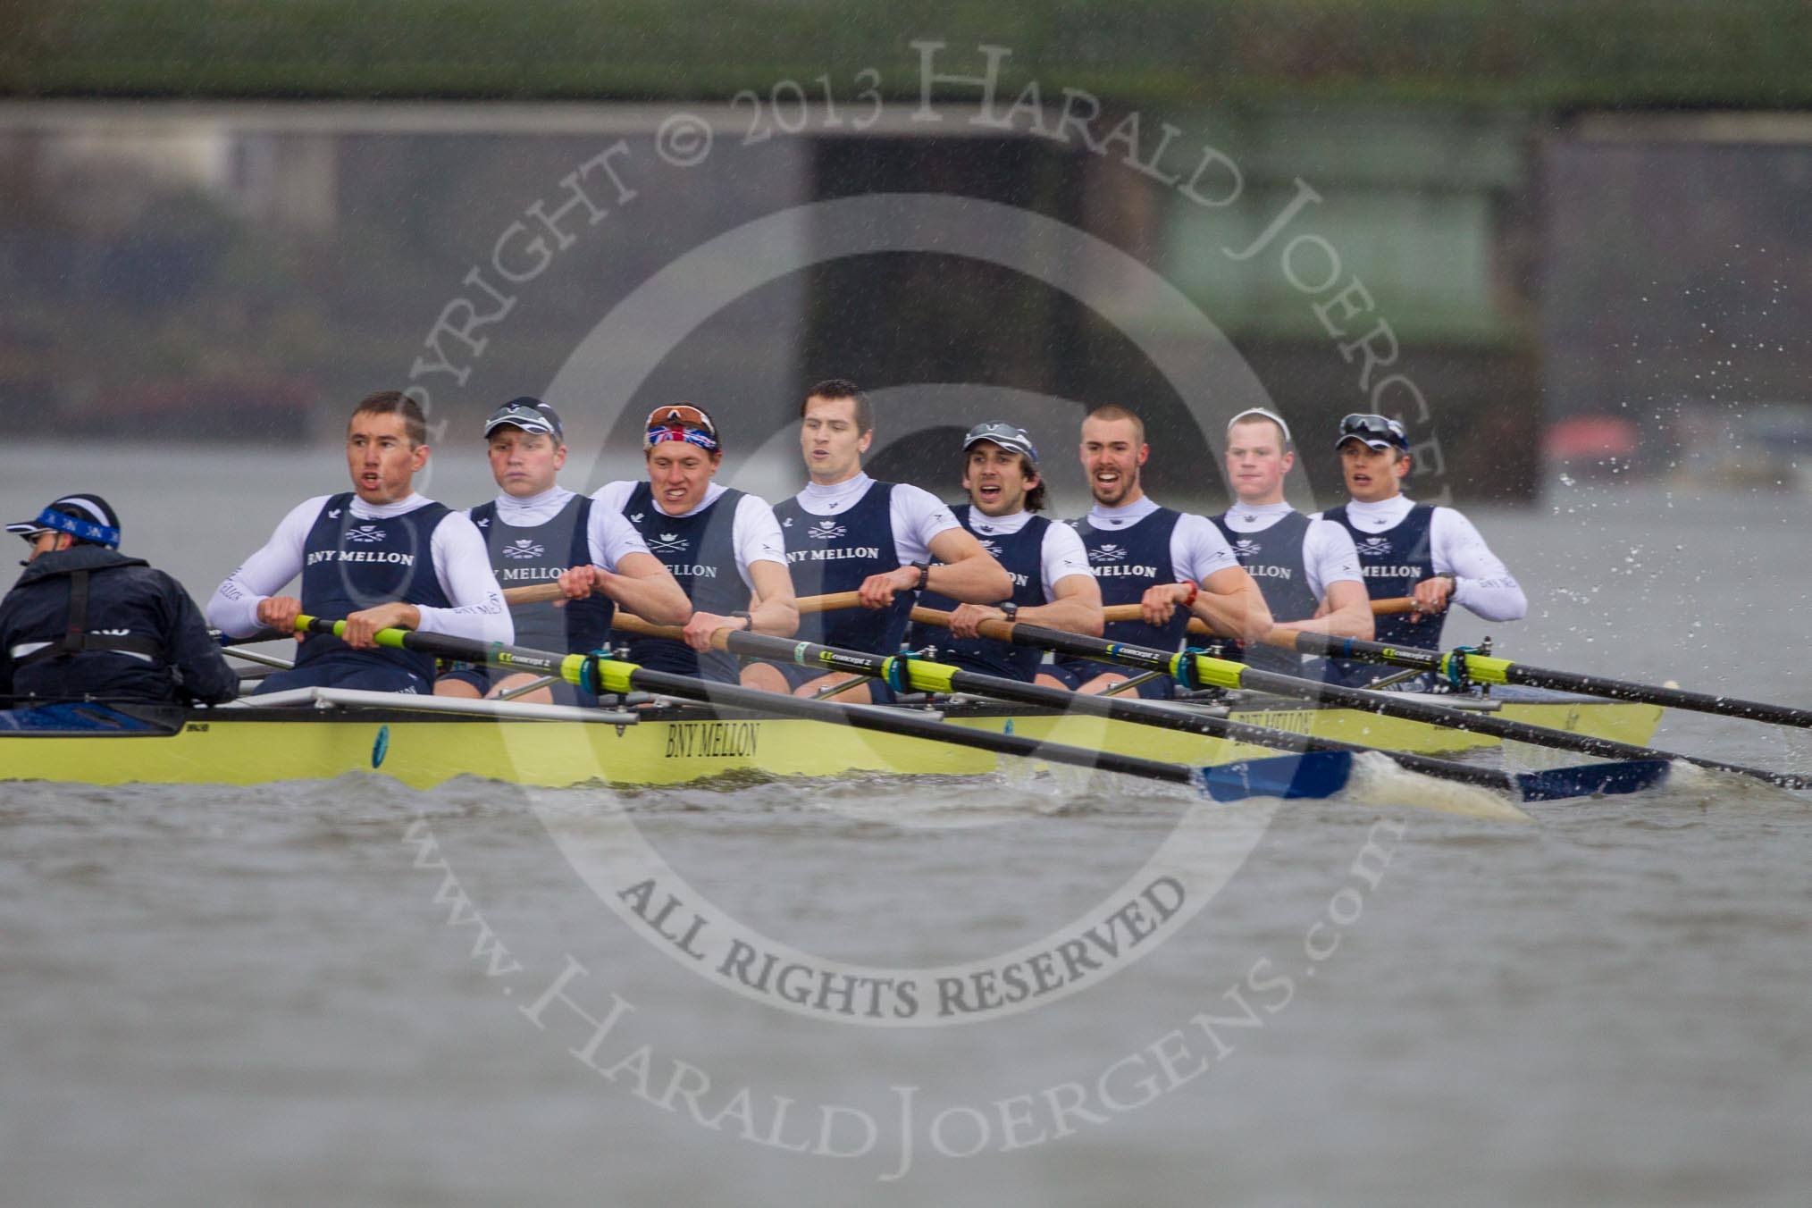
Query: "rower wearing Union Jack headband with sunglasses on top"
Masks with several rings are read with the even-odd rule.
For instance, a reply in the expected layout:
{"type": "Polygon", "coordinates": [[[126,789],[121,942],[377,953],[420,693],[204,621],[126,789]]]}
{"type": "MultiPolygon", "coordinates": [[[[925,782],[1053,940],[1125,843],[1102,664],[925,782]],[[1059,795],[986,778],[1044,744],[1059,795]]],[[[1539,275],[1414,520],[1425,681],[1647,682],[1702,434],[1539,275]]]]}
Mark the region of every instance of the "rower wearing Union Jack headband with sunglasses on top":
{"type": "MultiPolygon", "coordinates": [[[[774,509],[745,491],[712,482],[723,465],[718,424],[689,402],[654,407],[641,438],[649,476],[593,493],[600,511],[625,518],[690,601],[685,641],[638,636],[629,661],[678,676],[736,683],[734,654],[710,648],[719,628],[788,638],[799,628],[786,547],[774,509]]],[[[583,590],[587,567],[562,578],[583,590]]],[[[634,609],[632,609],[634,610],[634,609]]]]}

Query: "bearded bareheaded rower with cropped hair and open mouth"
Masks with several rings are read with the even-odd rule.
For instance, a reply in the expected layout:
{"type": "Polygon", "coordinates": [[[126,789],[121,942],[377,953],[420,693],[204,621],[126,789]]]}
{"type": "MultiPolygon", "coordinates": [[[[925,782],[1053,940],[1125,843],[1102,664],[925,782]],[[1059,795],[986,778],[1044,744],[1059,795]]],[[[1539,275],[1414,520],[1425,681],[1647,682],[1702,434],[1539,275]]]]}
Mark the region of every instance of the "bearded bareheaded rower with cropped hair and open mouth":
{"type": "MultiPolygon", "coordinates": [[[[1247,643],[1270,632],[1265,596],[1219,529],[1207,516],[1158,507],[1140,487],[1151,446],[1136,415],[1118,404],[1091,411],[1082,420],[1080,453],[1094,507],[1075,523],[1102,583],[1102,601],[1136,603],[1143,612],[1140,621],[1109,621],[1107,639],[1178,650],[1190,614],[1247,643]]],[[[1082,692],[1105,692],[1131,679],[1122,666],[1076,657],[1056,659],[1051,672],[1082,692]]],[[[1167,679],[1138,686],[1145,697],[1172,690],[1167,679]]]]}

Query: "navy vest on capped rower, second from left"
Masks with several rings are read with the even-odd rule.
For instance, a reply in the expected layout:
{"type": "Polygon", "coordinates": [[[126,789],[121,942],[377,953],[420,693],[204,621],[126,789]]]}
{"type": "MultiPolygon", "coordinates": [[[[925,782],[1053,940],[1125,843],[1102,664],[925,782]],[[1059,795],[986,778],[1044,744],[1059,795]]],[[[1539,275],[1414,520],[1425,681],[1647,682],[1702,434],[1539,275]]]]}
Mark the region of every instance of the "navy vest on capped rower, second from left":
{"type": "MultiPolygon", "coordinates": [[[[491,570],[506,590],[553,583],[571,567],[591,565],[591,500],[574,494],[565,507],[545,523],[516,527],[496,514],[496,500],[471,509],[471,522],[484,534],[491,551],[491,570]]],[[[585,599],[569,599],[564,607],[551,601],[511,609],[516,621],[516,645],[536,650],[578,654],[598,650],[609,641],[611,614],[616,605],[603,592],[585,599]]]]}

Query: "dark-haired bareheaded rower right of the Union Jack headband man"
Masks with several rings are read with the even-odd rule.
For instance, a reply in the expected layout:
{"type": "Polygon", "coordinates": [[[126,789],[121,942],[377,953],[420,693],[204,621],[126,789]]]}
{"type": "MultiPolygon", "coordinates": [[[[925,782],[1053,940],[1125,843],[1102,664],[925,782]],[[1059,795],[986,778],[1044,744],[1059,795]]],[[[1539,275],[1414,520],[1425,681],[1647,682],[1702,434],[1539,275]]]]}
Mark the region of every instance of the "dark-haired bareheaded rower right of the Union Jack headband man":
{"type": "MultiPolygon", "coordinates": [[[[892,654],[919,592],[995,603],[1013,594],[1013,580],[935,494],[863,473],[873,429],[868,397],[853,382],[814,386],[799,407],[799,449],[812,480],[774,514],[801,596],[853,590],[863,601],[859,609],[803,616],[799,638],[892,654]]],[[[879,681],[779,663],[750,663],[743,683],[797,695],[848,683],[837,699],[892,699],[879,681]]]]}

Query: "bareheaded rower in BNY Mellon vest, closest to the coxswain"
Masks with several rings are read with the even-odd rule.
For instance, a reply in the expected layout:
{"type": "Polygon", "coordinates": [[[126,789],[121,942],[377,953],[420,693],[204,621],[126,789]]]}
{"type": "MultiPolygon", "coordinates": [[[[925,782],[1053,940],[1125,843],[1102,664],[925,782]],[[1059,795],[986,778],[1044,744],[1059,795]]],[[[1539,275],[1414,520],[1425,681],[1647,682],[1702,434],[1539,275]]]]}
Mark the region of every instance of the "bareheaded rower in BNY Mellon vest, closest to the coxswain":
{"type": "Polygon", "coordinates": [[[428,422],[408,395],[370,395],[346,424],[352,491],[290,509],[277,531],[208,599],[208,621],[234,638],[290,632],[301,614],[346,619],[344,639],[308,636],[295,666],[259,692],[368,688],[429,692],[431,656],[379,647],[381,628],[511,641],[509,609],[484,538],[466,513],[417,494],[428,422]],[[277,596],[301,576],[301,596],[277,596]]]}

